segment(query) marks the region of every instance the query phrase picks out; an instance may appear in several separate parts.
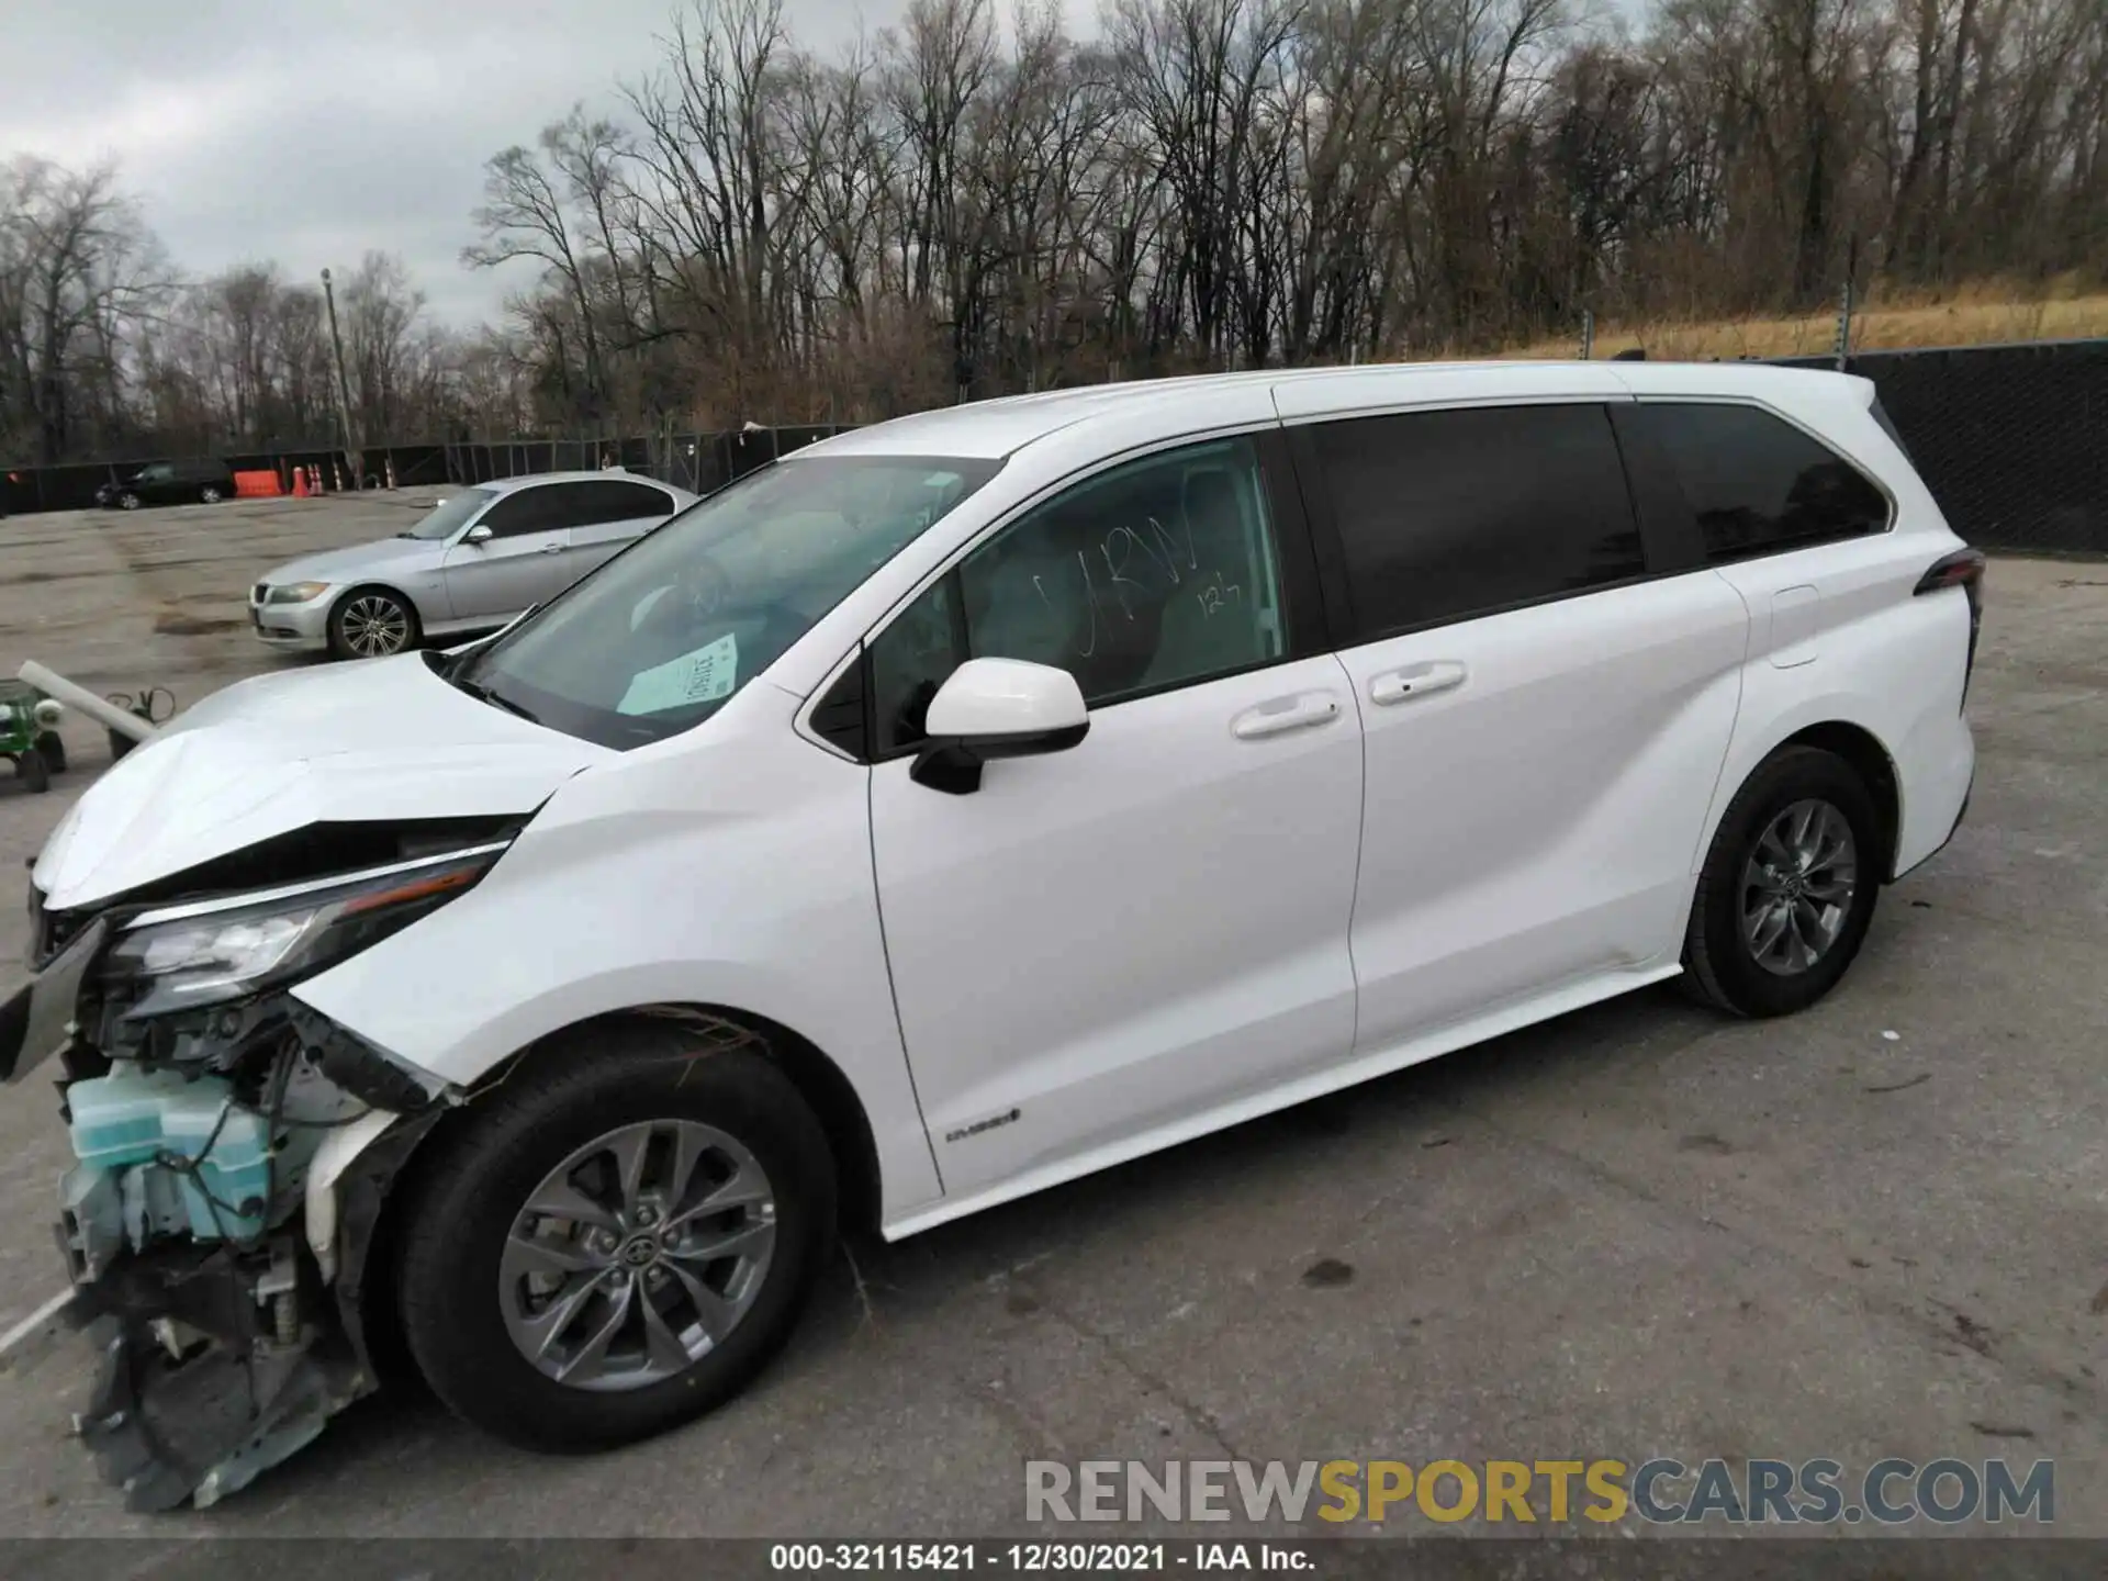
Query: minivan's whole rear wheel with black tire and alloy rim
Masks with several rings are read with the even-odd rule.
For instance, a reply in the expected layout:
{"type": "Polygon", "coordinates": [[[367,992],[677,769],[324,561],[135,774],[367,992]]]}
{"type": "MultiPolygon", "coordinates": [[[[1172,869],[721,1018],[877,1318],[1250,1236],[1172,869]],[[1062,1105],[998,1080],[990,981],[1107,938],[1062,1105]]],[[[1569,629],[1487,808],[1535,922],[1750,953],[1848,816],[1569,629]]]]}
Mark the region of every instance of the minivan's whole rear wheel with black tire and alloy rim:
{"type": "Polygon", "coordinates": [[[1684,932],[1689,991],[1737,1016],[1807,1010],[1851,968],[1885,875],[1859,772],[1815,746],[1773,753],[1705,854],[1684,932]]]}

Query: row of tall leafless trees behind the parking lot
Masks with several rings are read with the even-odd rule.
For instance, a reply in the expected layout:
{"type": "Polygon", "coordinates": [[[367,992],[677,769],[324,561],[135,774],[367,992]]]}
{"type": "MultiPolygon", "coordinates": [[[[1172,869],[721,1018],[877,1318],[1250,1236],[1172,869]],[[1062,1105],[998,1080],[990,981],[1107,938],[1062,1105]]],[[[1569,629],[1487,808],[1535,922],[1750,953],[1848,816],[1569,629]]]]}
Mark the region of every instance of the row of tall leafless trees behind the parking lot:
{"type": "MultiPolygon", "coordinates": [[[[2108,280],[2102,0],[689,0],[485,167],[497,331],[341,289],[365,430],[864,419],[1885,287],[2108,280]]],[[[0,443],[329,441],[312,291],[179,287],[114,173],[0,169],[0,443]]]]}

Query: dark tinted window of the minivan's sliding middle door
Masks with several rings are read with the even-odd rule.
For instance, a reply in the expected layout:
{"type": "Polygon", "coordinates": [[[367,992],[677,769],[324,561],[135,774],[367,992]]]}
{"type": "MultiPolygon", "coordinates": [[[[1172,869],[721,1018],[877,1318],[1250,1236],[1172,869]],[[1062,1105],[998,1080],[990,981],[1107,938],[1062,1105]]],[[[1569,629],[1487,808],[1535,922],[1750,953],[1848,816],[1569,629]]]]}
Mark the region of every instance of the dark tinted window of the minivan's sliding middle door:
{"type": "Polygon", "coordinates": [[[1358,641],[1646,571],[1598,405],[1320,424],[1358,641]]]}

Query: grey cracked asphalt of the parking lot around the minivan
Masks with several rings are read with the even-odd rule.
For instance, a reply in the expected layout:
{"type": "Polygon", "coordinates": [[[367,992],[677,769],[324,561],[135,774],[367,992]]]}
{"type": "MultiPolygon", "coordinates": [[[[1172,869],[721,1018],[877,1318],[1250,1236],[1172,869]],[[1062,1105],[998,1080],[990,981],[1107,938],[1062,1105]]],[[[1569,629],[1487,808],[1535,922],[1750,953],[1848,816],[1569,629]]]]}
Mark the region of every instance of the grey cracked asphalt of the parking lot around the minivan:
{"type": "MultiPolygon", "coordinates": [[[[310,662],[242,588],[422,500],[4,521],[0,670],[192,704],[310,662]]],[[[852,1242],[755,1389],[597,1459],[384,1393],[211,1511],[129,1516],[65,1345],[0,1374],[0,1530],[963,1537],[1031,1530],[1027,1459],[1893,1455],[2053,1459],[2055,1530],[2108,1535],[2108,569],[1994,561],[1969,713],[1967,822],[1809,1014],[1648,991],[852,1242]]],[[[48,795],[0,778],[0,887],[108,763],[65,740],[48,795]]],[[[63,1162],[48,1086],[0,1090],[0,1330],[61,1284],[63,1162]]]]}

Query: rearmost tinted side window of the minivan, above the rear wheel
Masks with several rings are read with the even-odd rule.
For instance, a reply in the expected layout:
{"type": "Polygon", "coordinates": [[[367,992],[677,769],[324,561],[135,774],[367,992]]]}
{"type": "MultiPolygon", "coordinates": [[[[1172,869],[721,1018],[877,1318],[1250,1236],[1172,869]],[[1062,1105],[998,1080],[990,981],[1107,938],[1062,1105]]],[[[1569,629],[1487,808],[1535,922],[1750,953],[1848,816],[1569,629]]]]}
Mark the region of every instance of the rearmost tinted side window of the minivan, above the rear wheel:
{"type": "Polygon", "coordinates": [[[1646,403],[1640,424],[1684,489],[1714,565],[1885,531],[1859,468],[1758,407],[1646,403]]]}

